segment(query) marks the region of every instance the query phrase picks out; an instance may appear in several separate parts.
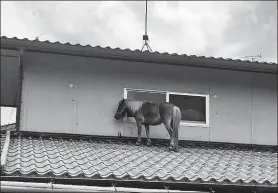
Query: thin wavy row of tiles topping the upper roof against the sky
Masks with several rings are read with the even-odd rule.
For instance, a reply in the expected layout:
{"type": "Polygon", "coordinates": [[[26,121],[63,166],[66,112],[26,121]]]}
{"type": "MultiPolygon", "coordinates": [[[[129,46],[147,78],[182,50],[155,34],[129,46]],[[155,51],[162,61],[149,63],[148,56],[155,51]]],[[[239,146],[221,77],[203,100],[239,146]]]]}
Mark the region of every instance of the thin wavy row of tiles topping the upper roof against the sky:
{"type": "MultiPolygon", "coordinates": [[[[66,43],[61,43],[59,41],[55,41],[55,42],[51,42],[49,40],[46,40],[46,41],[40,41],[40,40],[30,40],[30,39],[27,39],[27,38],[24,38],[24,39],[19,39],[17,37],[6,37],[6,36],[1,36],[1,39],[2,40],[16,40],[16,41],[30,41],[32,43],[36,43],[36,42],[40,42],[40,43],[50,43],[50,44],[53,44],[53,45],[67,45],[67,46],[78,46],[78,47],[86,47],[86,48],[92,48],[92,49],[103,49],[103,50],[107,50],[107,51],[117,51],[117,52],[131,52],[131,53],[142,53],[142,51],[140,51],[139,49],[136,49],[136,50],[131,50],[131,49],[121,49],[121,48],[111,48],[111,47],[101,47],[101,46],[91,46],[91,45],[81,45],[79,43],[76,43],[76,44],[71,44],[69,42],[66,42],[66,43]]],[[[200,58],[200,59],[207,59],[207,60],[219,60],[219,61],[233,61],[233,62],[245,62],[245,63],[250,63],[250,64],[276,64],[275,62],[259,62],[259,61],[250,61],[250,60],[240,60],[240,59],[232,59],[232,58],[222,58],[222,57],[218,57],[218,58],[215,58],[215,57],[206,57],[206,56],[196,56],[196,55],[187,55],[187,54],[177,54],[177,53],[168,53],[168,52],[149,52],[149,51],[143,51],[143,53],[145,54],[152,54],[153,56],[154,55],[163,55],[163,56],[176,56],[176,57],[184,57],[184,58],[188,58],[188,59],[194,59],[194,58],[200,58]]]]}

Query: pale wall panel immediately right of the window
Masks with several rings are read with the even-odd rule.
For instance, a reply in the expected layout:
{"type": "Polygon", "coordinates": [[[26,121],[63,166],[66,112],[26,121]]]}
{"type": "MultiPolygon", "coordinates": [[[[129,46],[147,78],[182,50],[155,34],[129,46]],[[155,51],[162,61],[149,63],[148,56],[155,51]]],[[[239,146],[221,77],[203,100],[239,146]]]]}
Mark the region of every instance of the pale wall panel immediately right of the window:
{"type": "Polygon", "coordinates": [[[250,86],[211,85],[211,141],[251,143],[250,98],[250,86]]]}

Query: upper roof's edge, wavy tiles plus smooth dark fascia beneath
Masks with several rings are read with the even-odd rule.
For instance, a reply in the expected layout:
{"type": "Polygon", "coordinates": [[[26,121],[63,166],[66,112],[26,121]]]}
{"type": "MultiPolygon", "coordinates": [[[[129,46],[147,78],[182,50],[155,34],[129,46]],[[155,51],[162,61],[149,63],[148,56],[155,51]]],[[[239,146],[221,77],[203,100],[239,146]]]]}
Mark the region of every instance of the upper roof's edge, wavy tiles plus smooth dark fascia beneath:
{"type": "Polygon", "coordinates": [[[7,38],[1,36],[1,49],[23,49],[32,52],[44,52],[53,54],[64,54],[72,56],[98,57],[115,60],[127,60],[138,62],[150,62],[168,65],[190,66],[213,68],[223,70],[245,71],[277,74],[277,63],[251,62],[249,60],[233,60],[224,58],[178,55],[176,53],[159,53],[159,52],[141,52],[139,50],[110,48],[110,47],[92,47],[90,45],[82,46],[80,44],[62,44],[60,42],[39,41],[7,38]]]}

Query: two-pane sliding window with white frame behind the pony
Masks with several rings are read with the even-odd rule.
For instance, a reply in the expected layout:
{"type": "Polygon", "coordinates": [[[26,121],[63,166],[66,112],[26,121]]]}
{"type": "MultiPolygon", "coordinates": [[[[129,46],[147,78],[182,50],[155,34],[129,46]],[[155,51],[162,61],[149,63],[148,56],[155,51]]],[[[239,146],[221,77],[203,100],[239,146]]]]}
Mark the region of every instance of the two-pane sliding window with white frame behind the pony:
{"type": "MultiPolygon", "coordinates": [[[[209,96],[144,89],[124,89],[124,98],[130,100],[170,102],[181,110],[181,125],[209,126],[209,96]]],[[[127,117],[130,117],[127,115],[127,117]]],[[[128,118],[129,121],[134,121],[128,118]]]]}

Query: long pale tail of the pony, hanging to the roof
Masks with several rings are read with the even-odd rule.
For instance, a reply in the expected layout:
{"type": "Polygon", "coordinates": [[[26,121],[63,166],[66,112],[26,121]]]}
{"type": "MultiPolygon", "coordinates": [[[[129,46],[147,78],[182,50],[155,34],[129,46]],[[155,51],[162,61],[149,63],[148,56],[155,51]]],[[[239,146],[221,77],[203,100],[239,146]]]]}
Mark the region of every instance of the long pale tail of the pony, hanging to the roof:
{"type": "Polygon", "coordinates": [[[173,118],[172,118],[172,129],[173,129],[173,138],[174,138],[174,148],[175,151],[179,149],[179,127],[181,121],[181,111],[180,108],[174,106],[173,108],[173,118]]]}

